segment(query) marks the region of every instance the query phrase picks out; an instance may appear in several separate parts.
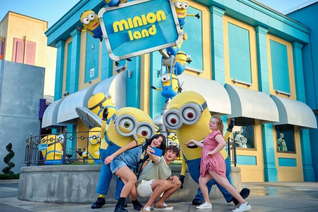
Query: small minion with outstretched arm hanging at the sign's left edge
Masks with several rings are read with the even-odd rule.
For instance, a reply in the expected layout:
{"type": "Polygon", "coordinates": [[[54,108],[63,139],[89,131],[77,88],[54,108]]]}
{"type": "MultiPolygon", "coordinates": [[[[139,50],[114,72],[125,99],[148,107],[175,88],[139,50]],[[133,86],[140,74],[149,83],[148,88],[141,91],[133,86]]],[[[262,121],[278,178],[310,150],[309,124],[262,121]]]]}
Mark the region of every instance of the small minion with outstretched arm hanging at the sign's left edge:
{"type": "Polygon", "coordinates": [[[85,29],[77,27],[77,30],[82,32],[88,31],[93,38],[99,38],[100,42],[103,41],[103,33],[101,31],[100,22],[98,20],[97,14],[93,10],[84,11],[80,15],[80,21],[85,29]]]}

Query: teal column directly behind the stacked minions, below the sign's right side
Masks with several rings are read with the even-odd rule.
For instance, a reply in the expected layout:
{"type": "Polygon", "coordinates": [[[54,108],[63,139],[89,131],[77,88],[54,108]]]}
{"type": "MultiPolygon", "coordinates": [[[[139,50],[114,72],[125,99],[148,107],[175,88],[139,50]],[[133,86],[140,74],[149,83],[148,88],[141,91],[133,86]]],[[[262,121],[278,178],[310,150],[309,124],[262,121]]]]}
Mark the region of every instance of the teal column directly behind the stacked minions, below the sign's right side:
{"type": "MultiPolygon", "coordinates": [[[[157,88],[162,87],[161,79],[158,72],[161,69],[162,55],[158,52],[150,53],[150,85],[157,88]]],[[[165,67],[163,67],[165,68],[165,67]]],[[[161,91],[150,89],[150,117],[154,119],[157,115],[160,115],[162,106],[164,105],[165,98],[162,97],[161,91]]]]}

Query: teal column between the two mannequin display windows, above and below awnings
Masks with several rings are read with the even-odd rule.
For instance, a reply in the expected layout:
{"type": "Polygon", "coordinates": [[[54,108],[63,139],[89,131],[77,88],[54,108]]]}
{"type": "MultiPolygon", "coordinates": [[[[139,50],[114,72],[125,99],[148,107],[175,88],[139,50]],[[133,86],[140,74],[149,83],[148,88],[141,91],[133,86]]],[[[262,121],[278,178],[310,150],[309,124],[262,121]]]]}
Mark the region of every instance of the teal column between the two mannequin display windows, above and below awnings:
{"type": "MultiPolygon", "coordinates": [[[[268,29],[256,26],[256,46],[257,46],[257,65],[259,77],[259,91],[270,94],[269,78],[267,65],[267,43],[266,34],[268,29]]],[[[277,168],[275,164],[275,149],[273,143],[273,124],[262,124],[262,143],[264,157],[264,177],[265,181],[276,182],[277,168]]]]}

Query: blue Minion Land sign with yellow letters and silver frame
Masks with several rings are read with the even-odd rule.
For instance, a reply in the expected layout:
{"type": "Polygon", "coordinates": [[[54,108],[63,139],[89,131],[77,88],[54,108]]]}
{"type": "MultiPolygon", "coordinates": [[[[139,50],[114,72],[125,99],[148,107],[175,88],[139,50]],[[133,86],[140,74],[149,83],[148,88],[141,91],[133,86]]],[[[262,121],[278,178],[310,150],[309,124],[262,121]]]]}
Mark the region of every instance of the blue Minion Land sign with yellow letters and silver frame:
{"type": "Polygon", "coordinates": [[[114,61],[175,46],[182,34],[172,0],[136,0],[98,13],[114,61]]]}

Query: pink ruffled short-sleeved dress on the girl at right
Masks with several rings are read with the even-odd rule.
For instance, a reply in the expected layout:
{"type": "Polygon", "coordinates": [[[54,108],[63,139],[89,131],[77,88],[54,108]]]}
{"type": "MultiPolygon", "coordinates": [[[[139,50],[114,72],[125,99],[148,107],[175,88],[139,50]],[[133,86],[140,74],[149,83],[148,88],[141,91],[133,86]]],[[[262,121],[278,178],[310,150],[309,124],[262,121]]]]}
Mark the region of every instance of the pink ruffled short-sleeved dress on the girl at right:
{"type": "Polygon", "coordinates": [[[220,131],[216,130],[208,134],[208,136],[206,136],[204,139],[200,167],[201,177],[205,177],[206,174],[209,174],[208,170],[213,170],[218,175],[226,178],[225,161],[222,154],[218,152],[216,154],[213,154],[210,158],[208,158],[207,156],[208,152],[211,152],[218,146],[218,141],[215,140],[215,137],[219,134],[222,135],[220,131]]]}

